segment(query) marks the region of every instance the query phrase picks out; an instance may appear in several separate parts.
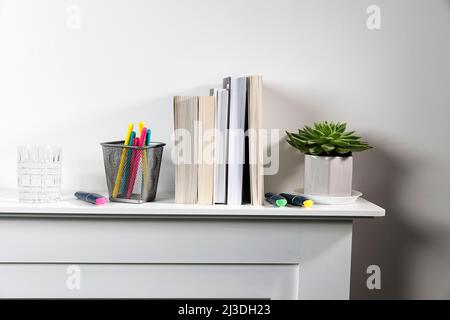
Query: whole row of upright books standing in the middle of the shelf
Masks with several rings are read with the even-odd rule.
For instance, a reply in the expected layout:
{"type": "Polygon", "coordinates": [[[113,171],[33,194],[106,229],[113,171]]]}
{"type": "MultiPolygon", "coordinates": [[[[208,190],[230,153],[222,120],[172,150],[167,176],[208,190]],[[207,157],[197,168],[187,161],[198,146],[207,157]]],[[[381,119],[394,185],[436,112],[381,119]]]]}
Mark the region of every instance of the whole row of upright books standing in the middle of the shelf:
{"type": "Polygon", "coordinates": [[[175,202],[264,203],[262,77],[228,77],[207,97],[174,97],[175,202]]]}

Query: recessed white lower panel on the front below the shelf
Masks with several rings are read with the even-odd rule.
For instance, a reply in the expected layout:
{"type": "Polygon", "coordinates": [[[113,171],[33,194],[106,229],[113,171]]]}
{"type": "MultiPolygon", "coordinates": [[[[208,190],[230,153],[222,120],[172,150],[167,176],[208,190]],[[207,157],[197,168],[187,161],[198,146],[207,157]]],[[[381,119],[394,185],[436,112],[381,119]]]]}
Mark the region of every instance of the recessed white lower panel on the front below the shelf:
{"type": "Polygon", "coordinates": [[[0,298],[297,299],[295,264],[0,264],[0,298]]]}

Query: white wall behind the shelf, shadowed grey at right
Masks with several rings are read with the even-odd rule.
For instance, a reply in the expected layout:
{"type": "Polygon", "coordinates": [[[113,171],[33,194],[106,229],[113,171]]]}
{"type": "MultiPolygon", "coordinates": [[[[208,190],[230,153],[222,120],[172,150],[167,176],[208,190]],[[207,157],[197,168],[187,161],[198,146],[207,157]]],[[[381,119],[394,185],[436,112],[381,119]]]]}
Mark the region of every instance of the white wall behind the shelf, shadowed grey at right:
{"type": "MultiPolygon", "coordinates": [[[[64,146],[67,191],[104,189],[99,142],[140,120],[169,142],[173,95],[262,74],[266,127],[347,121],[377,147],[356,156],[355,187],[388,216],[355,224],[352,296],[450,298],[449,39],[445,0],[0,0],[0,189],[25,142],[64,146]],[[370,264],[381,291],[365,288],[370,264]]],[[[274,191],[301,184],[302,156],[284,142],[281,156],[274,191]]]]}

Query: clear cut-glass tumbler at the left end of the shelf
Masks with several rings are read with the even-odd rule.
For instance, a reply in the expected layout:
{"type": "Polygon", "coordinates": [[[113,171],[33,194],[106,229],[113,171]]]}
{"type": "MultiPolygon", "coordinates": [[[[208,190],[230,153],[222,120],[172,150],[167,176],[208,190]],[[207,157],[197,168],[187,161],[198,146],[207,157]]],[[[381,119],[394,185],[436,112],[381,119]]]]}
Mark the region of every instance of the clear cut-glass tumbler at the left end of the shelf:
{"type": "Polygon", "coordinates": [[[17,148],[19,201],[57,202],[61,199],[61,147],[20,146],[17,148]]]}

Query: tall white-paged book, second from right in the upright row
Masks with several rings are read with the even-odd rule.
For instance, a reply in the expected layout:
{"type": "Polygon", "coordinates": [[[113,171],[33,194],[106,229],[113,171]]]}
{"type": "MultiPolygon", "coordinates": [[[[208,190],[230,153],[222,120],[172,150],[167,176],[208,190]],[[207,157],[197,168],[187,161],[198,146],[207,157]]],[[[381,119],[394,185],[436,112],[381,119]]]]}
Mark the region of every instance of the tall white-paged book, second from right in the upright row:
{"type": "Polygon", "coordinates": [[[228,190],[227,204],[242,204],[245,161],[245,113],[247,78],[225,78],[224,88],[230,92],[228,131],[228,190]]]}

